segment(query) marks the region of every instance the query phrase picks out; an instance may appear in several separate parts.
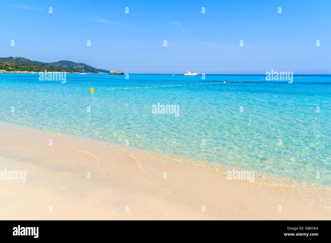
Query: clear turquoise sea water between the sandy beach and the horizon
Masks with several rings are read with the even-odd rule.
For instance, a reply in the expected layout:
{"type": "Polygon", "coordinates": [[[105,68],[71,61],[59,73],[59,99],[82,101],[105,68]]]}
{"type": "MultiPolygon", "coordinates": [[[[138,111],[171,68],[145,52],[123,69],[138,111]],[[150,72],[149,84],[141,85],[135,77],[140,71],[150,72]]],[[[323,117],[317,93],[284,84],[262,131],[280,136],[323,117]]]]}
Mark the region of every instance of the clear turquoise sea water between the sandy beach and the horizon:
{"type": "Polygon", "coordinates": [[[0,120],[328,188],[331,75],[310,76],[0,74],[0,120]],[[153,114],[158,103],[179,115],[153,114]]]}

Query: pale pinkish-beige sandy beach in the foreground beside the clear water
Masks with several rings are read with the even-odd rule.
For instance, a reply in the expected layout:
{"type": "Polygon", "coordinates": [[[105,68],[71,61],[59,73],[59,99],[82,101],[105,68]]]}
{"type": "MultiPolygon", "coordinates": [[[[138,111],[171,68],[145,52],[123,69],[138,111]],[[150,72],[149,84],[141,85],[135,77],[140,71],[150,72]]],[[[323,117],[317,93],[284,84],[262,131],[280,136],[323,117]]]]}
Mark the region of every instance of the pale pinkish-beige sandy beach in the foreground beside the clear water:
{"type": "Polygon", "coordinates": [[[2,121],[0,128],[0,170],[26,171],[25,183],[0,181],[2,219],[331,218],[298,190],[227,180],[211,165],[2,121]]]}

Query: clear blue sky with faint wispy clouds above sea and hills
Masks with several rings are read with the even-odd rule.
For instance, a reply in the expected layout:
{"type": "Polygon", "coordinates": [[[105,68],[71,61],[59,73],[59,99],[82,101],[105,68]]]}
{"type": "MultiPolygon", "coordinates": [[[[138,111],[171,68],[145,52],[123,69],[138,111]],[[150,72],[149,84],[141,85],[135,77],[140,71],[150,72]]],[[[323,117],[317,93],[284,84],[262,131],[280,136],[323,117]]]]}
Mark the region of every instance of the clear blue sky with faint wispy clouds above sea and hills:
{"type": "Polygon", "coordinates": [[[326,0],[1,1],[0,57],[125,73],[330,74],[330,9],[326,0]]]}

